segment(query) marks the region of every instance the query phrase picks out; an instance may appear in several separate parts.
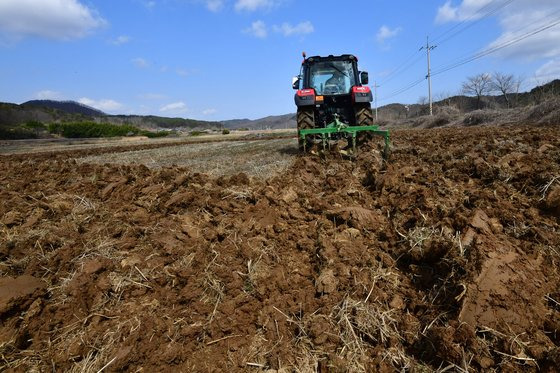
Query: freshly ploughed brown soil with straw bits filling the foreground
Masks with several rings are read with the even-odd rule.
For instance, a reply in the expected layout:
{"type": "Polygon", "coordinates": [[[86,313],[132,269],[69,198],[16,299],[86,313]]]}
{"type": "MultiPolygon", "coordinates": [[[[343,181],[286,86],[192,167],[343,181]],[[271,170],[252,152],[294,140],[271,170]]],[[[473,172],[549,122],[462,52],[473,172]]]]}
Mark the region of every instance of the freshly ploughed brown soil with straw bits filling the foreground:
{"type": "Polygon", "coordinates": [[[556,371],[558,128],[393,139],[266,180],[0,158],[1,366],[556,371]]]}

